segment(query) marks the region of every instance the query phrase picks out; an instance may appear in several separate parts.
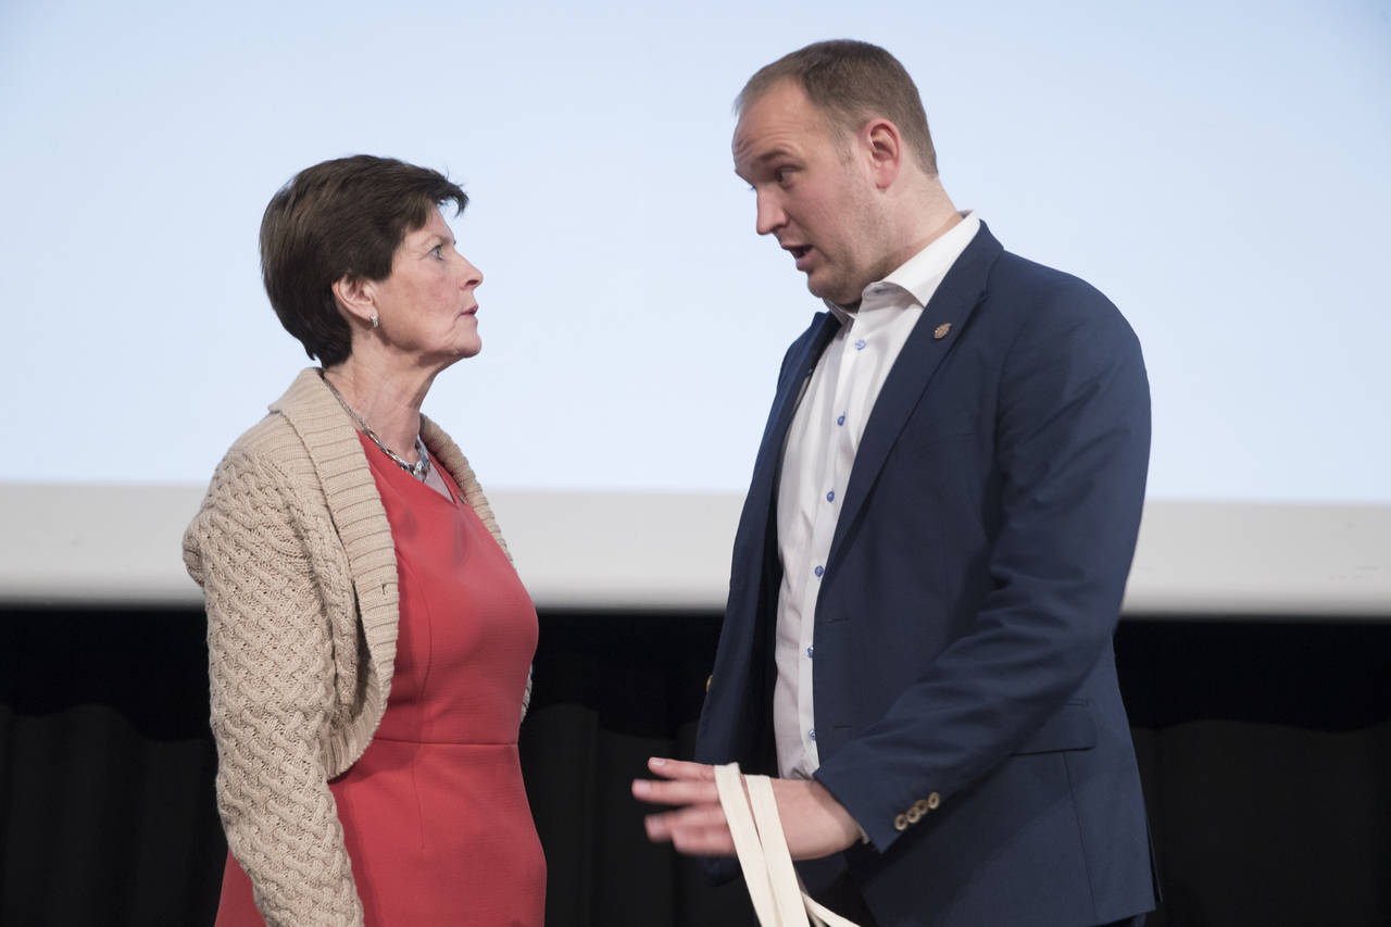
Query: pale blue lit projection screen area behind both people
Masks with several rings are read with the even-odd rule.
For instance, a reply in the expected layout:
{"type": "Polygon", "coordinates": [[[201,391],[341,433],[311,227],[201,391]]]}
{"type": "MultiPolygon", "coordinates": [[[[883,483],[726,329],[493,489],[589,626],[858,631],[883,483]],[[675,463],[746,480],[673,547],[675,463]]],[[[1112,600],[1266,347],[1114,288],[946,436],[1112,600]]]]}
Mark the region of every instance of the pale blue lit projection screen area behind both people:
{"type": "Polygon", "coordinates": [[[1387,3],[0,4],[0,480],[202,483],[307,363],[256,232],[296,170],[444,168],[484,354],[426,404],[492,489],[743,490],[818,309],[730,102],[853,36],[943,182],[1145,345],[1150,496],[1391,501],[1387,3]]]}

